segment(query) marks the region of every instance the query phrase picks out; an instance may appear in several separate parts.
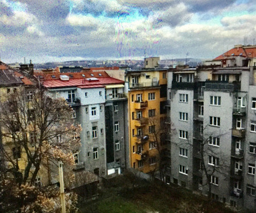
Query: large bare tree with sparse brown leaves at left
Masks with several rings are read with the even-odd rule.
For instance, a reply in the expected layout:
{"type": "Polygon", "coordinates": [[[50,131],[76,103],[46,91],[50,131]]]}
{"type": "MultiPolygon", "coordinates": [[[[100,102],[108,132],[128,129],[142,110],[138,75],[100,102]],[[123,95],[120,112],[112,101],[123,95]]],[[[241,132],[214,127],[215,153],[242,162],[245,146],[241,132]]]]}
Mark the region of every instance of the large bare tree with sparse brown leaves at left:
{"type": "MultiPolygon", "coordinates": [[[[1,188],[5,193],[10,190],[14,197],[15,193],[27,189],[13,201],[13,207],[16,205],[19,212],[22,209],[28,212],[23,207],[38,202],[38,196],[43,196],[42,190],[34,187],[39,184],[38,174],[48,174],[50,182],[50,170],[57,171],[53,165],[57,165],[58,160],[75,164],[72,151],[79,148],[80,126],[74,125],[73,110],[67,102],[49,97],[40,85],[35,86],[32,93],[20,87],[7,95],[0,101],[1,188]]],[[[0,194],[1,198],[2,195],[4,193],[0,194]]],[[[5,212],[8,205],[10,203],[5,203],[5,212]]]]}

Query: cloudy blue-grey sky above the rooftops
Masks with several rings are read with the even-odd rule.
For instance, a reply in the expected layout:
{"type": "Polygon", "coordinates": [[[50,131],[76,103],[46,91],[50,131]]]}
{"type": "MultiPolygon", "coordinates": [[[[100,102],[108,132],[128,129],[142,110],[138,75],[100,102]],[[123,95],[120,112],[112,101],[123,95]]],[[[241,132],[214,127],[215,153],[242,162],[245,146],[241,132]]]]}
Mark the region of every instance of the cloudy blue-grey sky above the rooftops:
{"type": "Polygon", "coordinates": [[[6,63],[213,59],[253,43],[255,0],[0,0],[6,63]]]}

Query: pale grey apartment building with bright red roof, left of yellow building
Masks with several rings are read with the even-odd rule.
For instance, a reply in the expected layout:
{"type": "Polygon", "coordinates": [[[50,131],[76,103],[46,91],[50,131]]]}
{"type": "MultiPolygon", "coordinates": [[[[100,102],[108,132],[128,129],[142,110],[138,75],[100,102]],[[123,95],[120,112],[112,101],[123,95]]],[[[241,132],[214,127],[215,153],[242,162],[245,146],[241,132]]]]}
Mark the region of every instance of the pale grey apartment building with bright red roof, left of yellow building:
{"type": "Polygon", "coordinates": [[[63,97],[81,124],[81,148],[74,153],[77,169],[97,176],[122,172],[126,167],[127,98],[124,82],[106,72],[36,73],[52,97],[63,97]]]}

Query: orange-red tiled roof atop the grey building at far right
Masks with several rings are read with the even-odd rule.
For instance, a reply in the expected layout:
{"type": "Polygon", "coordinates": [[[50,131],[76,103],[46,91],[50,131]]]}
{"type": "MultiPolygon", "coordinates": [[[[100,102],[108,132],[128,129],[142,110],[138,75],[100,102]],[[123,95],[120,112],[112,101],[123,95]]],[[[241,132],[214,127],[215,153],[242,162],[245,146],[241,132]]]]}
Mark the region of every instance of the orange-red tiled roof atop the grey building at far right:
{"type": "Polygon", "coordinates": [[[242,56],[242,57],[256,57],[256,48],[243,48],[243,47],[238,47],[238,48],[233,48],[230,49],[229,51],[225,52],[224,54],[216,57],[213,60],[222,60],[225,59],[228,56],[242,56]]]}

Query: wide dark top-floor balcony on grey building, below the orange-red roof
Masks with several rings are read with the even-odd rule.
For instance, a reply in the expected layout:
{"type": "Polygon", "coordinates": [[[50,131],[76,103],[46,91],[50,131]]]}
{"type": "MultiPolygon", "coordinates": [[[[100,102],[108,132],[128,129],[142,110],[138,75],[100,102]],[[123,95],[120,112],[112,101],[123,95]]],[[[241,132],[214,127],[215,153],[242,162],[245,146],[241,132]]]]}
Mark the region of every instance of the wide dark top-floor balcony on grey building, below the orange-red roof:
{"type": "Polygon", "coordinates": [[[206,81],[205,90],[237,91],[240,90],[240,83],[225,81],[206,81]]]}

